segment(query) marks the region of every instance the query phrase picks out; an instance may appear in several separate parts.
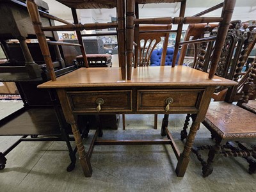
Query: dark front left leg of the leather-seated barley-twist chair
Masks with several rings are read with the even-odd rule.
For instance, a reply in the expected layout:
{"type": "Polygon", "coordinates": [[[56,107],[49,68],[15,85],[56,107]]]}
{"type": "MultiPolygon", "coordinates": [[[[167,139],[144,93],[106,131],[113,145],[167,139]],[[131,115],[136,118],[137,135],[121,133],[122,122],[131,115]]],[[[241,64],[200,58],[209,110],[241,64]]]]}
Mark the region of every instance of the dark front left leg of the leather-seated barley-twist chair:
{"type": "Polygon", "coordinates": [[[205,164],[205,166],[203,166],[203,168],[202,168],[203,177],[207,177],[207,176],[211,175],[211,173],[213,171],[212,163],[216,159],[216,155],[220,154],[220,150],[221,150],[220,141],[221,140],[216,141],[216,144],[214,145],[214,147],[212,147],[212,149],[209,150],[207,164],[205,164]]]}

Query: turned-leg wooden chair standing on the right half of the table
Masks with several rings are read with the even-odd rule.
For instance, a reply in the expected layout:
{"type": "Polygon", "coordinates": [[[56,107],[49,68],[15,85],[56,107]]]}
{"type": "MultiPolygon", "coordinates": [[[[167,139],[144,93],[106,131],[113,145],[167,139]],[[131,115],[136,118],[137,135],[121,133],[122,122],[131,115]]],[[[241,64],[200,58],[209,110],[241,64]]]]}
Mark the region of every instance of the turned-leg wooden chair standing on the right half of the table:
{"type": "MultiPolygon", "coordinates": [[[[214,49],[211,68],[209,72],[209,79],[214,77],[214,73],[217,67],[218,60],[221,54],[221,48],[223,47],[225,36],[223,34],[227,34],[228,31],[228,23],[230,22],[232,16],[232,10],[234,9],[234,4],[236,1],[223,1],[223,3],[217,4],[216,6],[205,10],[204,12],[198,13],[193,17],[184,17],[185,9],[186,9],[186,0],[185,1],[174,1],[174,0],[166,0],[166,1],[157,1],[157,3],[175,3],[180,2],[180,13],[179,17],[164,17],[164,18],[152,18],[152,19],[138,19],[138,4],[140,3],[156,3],[156,1],[140,1],[140,0],[132,0],[126,1],[126,51],[127,51],[127,79],[131,80],[131,67],[132,67],[132,46],[134,39],[134,26],[140,26],[140,24],[178,24],[176,40],[175,40],[175,50],[173,54],[173,63],[172,67],[175,67],[175,61],[177,59],[177,54],[179,51],[180,37],[182,33],[183,24],[196,24],[196,23],[210,23],[210,22],[220,22],[219,35],[216,36],[216,48],[214,49]],[[218,8],[223,7],[223,11],[221,13],[221,17],[200,17],[205,13],[212,12],[218,8]],[[136,12],[136,14],[134,14],[136,12]],[[136,15],[136,19],[135,19],[136,15]],[[221,35],[220,35],[221,34],[221,35]]],[[[201,38],[198,40],[199,42],[207,42],[211,41],[212,38],[201,38]]],[[[182,42],[182,44],[191,44],[195,42],[182,42]]]]}

